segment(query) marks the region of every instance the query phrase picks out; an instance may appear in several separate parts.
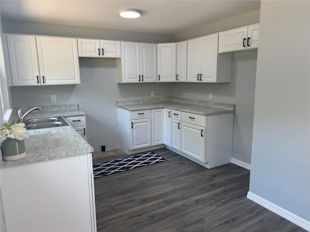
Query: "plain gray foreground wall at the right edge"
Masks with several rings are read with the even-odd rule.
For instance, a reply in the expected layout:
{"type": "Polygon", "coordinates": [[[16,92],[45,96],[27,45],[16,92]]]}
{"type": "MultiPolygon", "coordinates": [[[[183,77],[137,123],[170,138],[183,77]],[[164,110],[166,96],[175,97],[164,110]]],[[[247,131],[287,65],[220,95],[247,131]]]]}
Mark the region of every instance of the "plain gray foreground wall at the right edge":
{"type": "Polygon", "coordinates": [[[260,18],[249,191],[309,223],[310,1],[262,1],[260,18]]]}

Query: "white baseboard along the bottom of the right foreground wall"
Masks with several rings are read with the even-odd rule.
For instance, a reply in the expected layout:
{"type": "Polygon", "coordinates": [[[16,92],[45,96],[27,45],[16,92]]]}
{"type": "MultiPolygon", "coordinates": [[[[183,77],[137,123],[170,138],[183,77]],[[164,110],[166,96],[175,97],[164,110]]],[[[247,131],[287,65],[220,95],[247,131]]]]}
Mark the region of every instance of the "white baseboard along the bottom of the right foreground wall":
{"type": "Polygon", "coordinates": [[[262,197],[254,194],[250,191],[248,191],[247,198],[249,200],[255,202],[255,203],[262,205],[266,209],[269,209],[270,211],[278,214],[281,217],[284,217],[285,219],[296,224],[297,226],[300,226],[301,228],[310,232],[310,221],[307,221],[307,220],[287,211],[286,209],[283,209],[280,206],[263,199],[262,197]]]}

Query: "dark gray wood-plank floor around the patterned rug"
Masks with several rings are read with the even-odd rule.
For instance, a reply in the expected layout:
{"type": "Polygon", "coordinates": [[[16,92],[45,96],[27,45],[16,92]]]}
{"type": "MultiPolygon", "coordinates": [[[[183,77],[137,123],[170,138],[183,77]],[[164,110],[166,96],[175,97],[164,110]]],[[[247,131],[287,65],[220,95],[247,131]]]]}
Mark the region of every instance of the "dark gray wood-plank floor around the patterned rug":
{"type": "Polygon", "coordinates": [[[94,180],[98,232],[306,232],[246,198],[247,169],[154,151],[167,161],[94,180]]]}

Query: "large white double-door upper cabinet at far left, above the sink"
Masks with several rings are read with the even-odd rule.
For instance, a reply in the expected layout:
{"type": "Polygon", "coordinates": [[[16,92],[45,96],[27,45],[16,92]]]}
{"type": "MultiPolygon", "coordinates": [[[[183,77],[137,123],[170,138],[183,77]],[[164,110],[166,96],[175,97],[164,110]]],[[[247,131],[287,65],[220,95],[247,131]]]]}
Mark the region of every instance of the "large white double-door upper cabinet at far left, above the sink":
{"type": "Polygon", "coordinates": [[[13,86],[80,84],[75,38],[6,34],[13,86]]]}

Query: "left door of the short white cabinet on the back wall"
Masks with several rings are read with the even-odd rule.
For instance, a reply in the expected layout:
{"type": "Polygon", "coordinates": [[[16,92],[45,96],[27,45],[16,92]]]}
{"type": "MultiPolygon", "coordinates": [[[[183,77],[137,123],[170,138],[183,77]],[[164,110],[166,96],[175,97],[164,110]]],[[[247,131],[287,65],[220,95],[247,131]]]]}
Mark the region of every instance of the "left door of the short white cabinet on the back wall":
{"type": "Polygon", "coordinates": [[[79,57],[100,57],[100,41],[90,39],[78,39],[79,57]]]}

